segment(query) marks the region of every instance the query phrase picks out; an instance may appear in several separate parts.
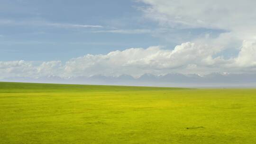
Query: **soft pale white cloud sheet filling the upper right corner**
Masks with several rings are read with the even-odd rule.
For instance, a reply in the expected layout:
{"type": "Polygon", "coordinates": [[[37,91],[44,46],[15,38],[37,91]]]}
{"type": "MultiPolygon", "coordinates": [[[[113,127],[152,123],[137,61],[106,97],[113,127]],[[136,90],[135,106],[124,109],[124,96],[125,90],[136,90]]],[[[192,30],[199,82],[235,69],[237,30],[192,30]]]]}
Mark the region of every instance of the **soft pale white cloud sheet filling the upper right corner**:
{"type": "Polygon", "coordinates": [[[254,28],[255,0],[140,0],[146,17],[161,24],[238,30],[254,28]],[[247,27],[245,27],[247,26],[247,27]]]}

